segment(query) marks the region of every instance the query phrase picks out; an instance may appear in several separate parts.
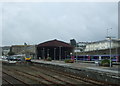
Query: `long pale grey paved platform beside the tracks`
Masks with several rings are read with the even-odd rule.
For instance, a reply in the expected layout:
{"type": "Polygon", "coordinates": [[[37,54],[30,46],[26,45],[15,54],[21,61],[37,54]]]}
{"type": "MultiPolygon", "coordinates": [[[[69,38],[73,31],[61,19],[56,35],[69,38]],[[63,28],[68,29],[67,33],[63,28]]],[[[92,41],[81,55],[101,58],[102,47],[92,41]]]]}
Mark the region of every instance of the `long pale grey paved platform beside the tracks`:
{"type": "Polygon", "coordinates": [[[95,63],[91,63],[91,62],[65,63],[64,61],[43,61],[43,60],[32,60],[32,61],[39,62],[39,63],[67,66],[67,67],[78,68],[78,69],[86,68],[86,69],[95,70],[98,72],[108,72],[108,73],[115,73],[115,74],[120,73],[119,65],[113,65],[113,67],[101,67],[101,66],[98,66],[95,63]]]}

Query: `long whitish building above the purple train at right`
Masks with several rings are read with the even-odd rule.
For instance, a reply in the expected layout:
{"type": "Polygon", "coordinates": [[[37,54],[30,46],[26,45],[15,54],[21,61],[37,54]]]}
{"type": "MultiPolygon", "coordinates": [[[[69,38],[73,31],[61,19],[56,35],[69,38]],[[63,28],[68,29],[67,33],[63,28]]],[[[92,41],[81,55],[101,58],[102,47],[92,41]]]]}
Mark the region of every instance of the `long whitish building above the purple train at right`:
{"type": "Polygon", "coordinates": [[[120,52],[120,40],[112,39],[111,45],[110,41],[108,40],[101,40],[89,43],[86,42],[84,50],[80,53],[86,55],[107,55],[110,53],[110,48],[112,54],[119,54],[118,52],[120,52]]]}

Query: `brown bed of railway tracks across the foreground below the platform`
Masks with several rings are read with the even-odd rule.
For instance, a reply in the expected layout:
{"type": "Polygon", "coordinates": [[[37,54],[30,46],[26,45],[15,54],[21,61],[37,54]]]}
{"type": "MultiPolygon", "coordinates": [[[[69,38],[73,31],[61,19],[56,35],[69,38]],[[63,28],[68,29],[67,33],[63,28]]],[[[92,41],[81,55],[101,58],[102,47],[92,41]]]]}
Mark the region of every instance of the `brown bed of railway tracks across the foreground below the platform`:
{"type": "MultiPolygon", "coordinates": [[[[43,85],[43,86],[112,86],[109,83],[95,81],[89,78],[82,78],[74,74],[70,74],[64,71],[59,71],[51,69],[49,67],[43,67],[38,64],[27,65],[27,66],[5,66],[3,67],[3,73],[8,73],[8,75],[13,74],[17,75],[14,78],[19,78],[20,76],[27,81],[23,81],[24,85],[43,85]],[[22,69],[22,70],[21,70],[22,69]]],[[[5,78],[6,79],[6,78],[5,78]]],[[[4,80],[4,77],[3,77],[4,80]]],[[[20,79],[18,79],[19,81],[20,79]]],[[[9,81],[4,80],[6,83],[9,81]]],[[[11,86],[14,86],[15,83],[9,83],[11,86]]],[[[114,86],[114,85],[113,85],[114,86]]]]}

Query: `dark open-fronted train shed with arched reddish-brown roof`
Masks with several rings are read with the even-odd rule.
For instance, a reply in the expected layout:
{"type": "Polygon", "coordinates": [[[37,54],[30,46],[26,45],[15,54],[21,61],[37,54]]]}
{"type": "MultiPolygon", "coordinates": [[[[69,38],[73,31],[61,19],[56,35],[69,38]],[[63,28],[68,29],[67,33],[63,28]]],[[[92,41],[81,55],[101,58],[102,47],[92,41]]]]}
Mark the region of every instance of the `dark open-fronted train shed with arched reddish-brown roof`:
{"type": "Polygon", "coordinates": [[[37,45],[37,59],[46,59],[50,57],[52,60],[63,60],[70,55],[74,47],[69,43],[50,40],[37,45]]]}

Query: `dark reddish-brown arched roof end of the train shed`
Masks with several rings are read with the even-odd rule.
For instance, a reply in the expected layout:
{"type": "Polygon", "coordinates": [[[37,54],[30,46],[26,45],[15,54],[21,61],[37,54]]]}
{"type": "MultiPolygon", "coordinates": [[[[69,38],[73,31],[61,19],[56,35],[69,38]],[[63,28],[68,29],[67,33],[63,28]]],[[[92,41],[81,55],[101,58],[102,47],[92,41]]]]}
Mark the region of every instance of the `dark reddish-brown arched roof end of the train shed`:
{"type": "Polygon", "coordinates": [[[71,46],[70,44],[68,43],[65,43],[63,41],[59,41],[59,40],[51,40],[51,41],[47,41],[47,42],[44,42],[44,43],[41,43],[38,45],[38,47],[71,47],[73,48],[73,46],[71,46]]]}

